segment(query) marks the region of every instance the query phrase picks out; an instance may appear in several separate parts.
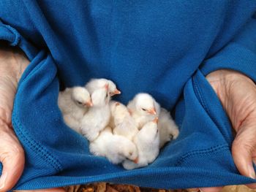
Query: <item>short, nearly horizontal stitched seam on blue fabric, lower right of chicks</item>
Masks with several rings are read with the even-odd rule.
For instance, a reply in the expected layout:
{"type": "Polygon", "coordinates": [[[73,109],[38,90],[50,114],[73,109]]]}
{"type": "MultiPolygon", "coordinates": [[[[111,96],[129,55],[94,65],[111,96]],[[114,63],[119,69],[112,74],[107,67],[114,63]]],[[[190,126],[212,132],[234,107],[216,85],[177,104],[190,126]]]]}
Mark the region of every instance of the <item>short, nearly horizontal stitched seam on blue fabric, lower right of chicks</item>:
{"type": "Polygon", "coordinates": [[[192,150],[189,153],[187,153],[185,155],[182,155],[181,158],[176,163],[176,166],[179,166],[184,161],[186,161],[187,158],[191,158],[195,155],[205,155],[205,154],[208,154],[208,153],[216,153],[216,152],[219,152],[221,150],[229,150],[228,145],[216,145],[214,147],[210,147],[210,148],[204,149],[204,150],[192,150]]]}

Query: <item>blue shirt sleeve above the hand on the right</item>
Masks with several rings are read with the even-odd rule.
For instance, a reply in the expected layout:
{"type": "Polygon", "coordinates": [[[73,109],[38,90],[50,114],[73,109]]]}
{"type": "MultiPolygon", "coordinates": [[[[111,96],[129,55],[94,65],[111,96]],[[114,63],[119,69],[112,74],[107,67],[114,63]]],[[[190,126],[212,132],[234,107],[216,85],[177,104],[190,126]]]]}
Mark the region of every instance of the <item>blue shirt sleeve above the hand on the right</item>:
{"type": "Polygon", "coordinates": [[[256,82],[256,13],[225,47],[203,61],[204,75],[218,69],[233,69],[256,82]]]}

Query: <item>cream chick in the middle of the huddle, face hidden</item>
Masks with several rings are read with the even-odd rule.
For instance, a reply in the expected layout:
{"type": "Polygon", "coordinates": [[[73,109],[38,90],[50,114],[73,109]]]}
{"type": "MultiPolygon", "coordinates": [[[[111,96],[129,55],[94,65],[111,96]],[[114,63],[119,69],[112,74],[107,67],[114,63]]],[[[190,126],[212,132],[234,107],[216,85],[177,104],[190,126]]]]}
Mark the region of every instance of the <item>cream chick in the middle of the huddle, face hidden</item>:
{"type": "Polygon", "coordinates": [[[129,114],[127,107],[118,101],[111,101],[110,111],[110,126],[113,128],[113,134],[132,140],[138,134],[138,128],[135,119],[129,114]]]}

